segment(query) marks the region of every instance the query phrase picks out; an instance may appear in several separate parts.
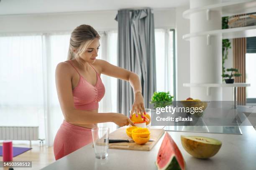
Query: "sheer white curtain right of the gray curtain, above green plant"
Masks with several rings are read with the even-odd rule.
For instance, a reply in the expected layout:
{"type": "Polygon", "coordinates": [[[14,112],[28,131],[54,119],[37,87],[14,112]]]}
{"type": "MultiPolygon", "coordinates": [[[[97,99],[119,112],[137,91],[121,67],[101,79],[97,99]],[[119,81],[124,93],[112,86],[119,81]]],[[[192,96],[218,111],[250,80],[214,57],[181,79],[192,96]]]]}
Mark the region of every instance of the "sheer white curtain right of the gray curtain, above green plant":
{"type": "Polygon", "coordinates": [[[155,30],[156,43],[156,90],[174,94],[173,32],[169,29],[155,30]]]}

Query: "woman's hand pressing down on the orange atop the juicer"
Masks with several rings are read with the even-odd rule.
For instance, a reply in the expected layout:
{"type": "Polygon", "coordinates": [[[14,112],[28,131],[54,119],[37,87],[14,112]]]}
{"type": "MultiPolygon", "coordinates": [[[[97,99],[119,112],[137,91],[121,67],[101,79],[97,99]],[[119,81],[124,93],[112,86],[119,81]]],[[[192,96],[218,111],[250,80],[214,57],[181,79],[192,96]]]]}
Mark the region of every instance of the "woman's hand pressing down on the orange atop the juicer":
{"type": "Polygon", "coordinates": [[[133,112],[136,112],[136,117],[138,117],[138,113],[141,114],[142,118],[144,117],[143,113],[144,113],[144,115],[146,115],[145,108],[144,108],[144,100],[143,100],[143,96],[142,96],[141,92],[137,92],[135,94],[133,108],[130,112],[130,118],[131,118],[133,112]]]}

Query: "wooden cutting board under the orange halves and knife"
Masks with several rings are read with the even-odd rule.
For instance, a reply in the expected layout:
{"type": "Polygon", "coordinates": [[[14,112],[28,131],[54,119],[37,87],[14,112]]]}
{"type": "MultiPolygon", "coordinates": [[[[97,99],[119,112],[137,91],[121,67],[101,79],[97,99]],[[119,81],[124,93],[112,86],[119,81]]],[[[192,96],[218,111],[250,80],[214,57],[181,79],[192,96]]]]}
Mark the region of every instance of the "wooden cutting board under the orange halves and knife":
{"type": "MultiPolygon", "coordinates": [[[[129,139],[131,140],[132,138],[128,137],[126,134],[126,128],[127,127],[121,127],[118,130],[115,130],[113,133],[110,133],[109,139],[129,139]]],[[[152,142],[147,142],[144,145],[138,145],[136,143],[109,143],[109,148],[110,149],[124,149],[124,150],[144,150],[144,151],[149,151],[151,150],[154,145],[157,143],[157,141],[161,138],[161,136],[164,134],[163,129],[150,129],[150,139],[151,140],[156,140],[152,142]]]]}

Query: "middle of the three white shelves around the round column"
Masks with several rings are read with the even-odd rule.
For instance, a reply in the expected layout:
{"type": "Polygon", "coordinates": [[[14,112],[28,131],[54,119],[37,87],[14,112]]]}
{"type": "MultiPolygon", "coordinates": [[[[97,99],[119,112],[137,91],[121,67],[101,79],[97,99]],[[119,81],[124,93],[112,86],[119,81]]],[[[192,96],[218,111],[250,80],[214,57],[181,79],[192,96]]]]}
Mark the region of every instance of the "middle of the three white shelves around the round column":
{"type": "Polygon", "coordinates": [[[223,29],[223,30],[212,30],[212,31],[185,34],[183,35],[183,39],[189,40],[190,37],[200,37],[200,36],[207,37],[208,35],[210,36],[222,35],[222,39],[256,37],[256,25],[248,26],[248,27],[229,28],[229,29],[223,29]]]}

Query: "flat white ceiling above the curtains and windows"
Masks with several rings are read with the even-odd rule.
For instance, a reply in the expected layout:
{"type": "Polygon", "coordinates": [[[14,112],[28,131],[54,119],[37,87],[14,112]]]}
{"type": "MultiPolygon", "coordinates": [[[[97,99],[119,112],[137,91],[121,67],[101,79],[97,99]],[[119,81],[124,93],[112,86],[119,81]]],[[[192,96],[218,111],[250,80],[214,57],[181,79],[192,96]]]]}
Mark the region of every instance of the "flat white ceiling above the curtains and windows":
{"type": "Polygon", "coordinates": [[[0,0],[0,15],[118,10],[122,8],[171,8],[189,0],[0,0]]]}

